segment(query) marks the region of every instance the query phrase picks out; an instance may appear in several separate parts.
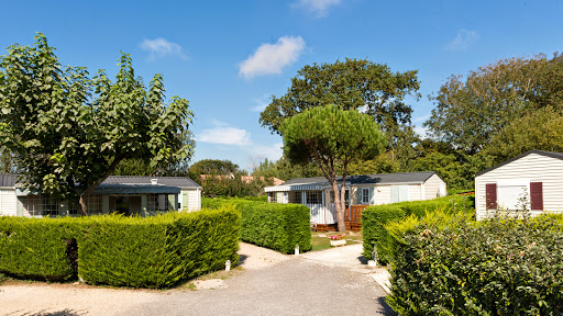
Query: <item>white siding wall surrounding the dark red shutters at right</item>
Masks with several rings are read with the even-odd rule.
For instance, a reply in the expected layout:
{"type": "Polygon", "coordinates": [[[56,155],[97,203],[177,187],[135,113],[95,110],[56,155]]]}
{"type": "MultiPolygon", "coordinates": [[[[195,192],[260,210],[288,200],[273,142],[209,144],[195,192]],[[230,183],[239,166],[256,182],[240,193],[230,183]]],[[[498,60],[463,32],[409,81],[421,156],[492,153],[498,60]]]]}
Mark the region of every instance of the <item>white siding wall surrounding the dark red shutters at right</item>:
{"type": "Polygon", "coordinates": [[[507,180],[543,182],[543,208],[551,212],[563,212],[563,160],[530,154],[475,178],[477,219],[482,219],[487,214],[485,184],[507,180]]]}

